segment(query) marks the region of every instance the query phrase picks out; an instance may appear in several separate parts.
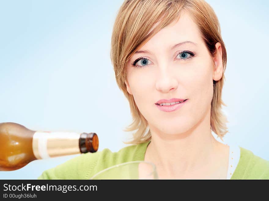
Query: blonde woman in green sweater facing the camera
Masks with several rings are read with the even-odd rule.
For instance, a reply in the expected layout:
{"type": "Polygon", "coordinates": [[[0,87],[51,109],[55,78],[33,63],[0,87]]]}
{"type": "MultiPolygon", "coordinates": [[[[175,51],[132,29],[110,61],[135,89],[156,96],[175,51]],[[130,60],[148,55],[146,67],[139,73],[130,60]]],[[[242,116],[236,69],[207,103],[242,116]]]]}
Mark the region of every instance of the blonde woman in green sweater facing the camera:
{"type": "Polygon", "coordinates": [[[227,53],[203,0],[125,0],[113,27],[111,60],[127,97],[135,144],[82,154],[39,179],[88,179],[110,166],[145,160],[160,179],[269,179],[269,161],[218,142],[227,53]]]}

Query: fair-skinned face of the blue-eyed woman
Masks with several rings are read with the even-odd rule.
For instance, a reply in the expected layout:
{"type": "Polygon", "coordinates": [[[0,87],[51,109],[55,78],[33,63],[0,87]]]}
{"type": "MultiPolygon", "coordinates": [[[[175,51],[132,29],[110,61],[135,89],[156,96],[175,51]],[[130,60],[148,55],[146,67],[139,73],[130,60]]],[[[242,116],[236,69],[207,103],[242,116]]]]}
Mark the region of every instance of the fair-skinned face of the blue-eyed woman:
{"type": "Polygon", "coordinates": [[[213,80],[222,76],[221,58],[220,52],[212,60],[188,13],[144,44],[128,61],[125,84],[149,128],[173,135],[201,121],[211,109],[213,80]],[[220,68],[215,75],[214,62],[220,68]],[[172,98],[187,101],[169,112],[156,105],[160,99],[172,98]]]}

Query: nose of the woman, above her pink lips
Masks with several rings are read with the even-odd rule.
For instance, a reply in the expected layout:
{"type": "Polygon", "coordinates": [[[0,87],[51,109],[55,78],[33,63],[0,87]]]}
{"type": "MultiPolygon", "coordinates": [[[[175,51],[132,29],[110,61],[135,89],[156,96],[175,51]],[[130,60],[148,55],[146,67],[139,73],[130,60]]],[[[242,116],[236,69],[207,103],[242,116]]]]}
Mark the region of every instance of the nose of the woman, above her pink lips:
{"type": "Polygon", "coordinates": [[[169,68],[161,69],[159,76],[156,80],[156,89],[161,93],[168,93],[176,90],[178,87],[178,81],[175,73],[169,70],[169,68]]]}

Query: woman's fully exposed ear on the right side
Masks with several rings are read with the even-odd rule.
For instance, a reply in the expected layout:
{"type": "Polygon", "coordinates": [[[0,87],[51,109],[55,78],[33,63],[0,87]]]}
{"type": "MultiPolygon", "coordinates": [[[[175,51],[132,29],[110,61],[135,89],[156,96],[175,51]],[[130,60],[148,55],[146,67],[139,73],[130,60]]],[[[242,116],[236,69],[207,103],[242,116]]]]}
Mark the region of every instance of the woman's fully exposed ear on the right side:
{"type": "Polygon", "coordinates": [[[222,63],[222,49],[219,42],[216,43],[216,56],[214,57],[215,67],[213,70],[213,80],[218,81],[221,79],[223,74],[223,63],[222,63]]]}

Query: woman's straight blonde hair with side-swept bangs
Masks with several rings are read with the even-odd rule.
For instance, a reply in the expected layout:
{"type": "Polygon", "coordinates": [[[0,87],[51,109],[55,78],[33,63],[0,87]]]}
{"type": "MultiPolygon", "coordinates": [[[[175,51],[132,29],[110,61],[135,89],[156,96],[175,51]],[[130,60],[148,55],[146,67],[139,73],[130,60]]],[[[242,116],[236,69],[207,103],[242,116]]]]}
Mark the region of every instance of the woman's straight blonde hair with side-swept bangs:
{"type": "MultiPolygon", "coordinates": [[[[223,76],[213,80],[213,98],[211,102],[211,130],[220,137],[228,132],[227,117],[221,111],[226,106],[221,99],[224,84],[224,71],[227,63],[227,52],[223,43],[218,18],[211,6],[204,0],[125,0],[120,7],[113,26],[110,57],[115,71],[116,82],[127,97],[133,122],[123,131],[133,133],[133,140],[125,143],[139,144],[151,140],[148,122],[136,106],[133,95],[126,89],[126,68],[129,59],[153,35],[174,20],[178,20],[182,11],[192,14],[199,27],[212,58],[216,55],[215,44],[221,43],[223,76]],[[156,27],[154,24],[159,22],[156,27]],[[152,31],[151,31],[152,29],[152,31]],[[150,31],[149,34],[147,34],[150,31]]],[[[214,69],[216,69],[214,65],[214,69]]]]}

